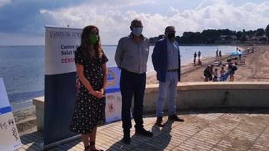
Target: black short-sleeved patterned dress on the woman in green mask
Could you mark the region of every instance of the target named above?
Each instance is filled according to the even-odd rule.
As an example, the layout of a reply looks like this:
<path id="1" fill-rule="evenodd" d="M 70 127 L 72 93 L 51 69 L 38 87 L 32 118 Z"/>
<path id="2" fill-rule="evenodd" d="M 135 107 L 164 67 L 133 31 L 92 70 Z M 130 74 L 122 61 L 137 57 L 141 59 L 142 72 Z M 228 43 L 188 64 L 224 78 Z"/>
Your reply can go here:
<path id="1" fill-rule="evenodd" d="M 101 58 L 98 56 L 90 58 L 84 55 L 80 47 L 75 52 L 75 62 L 83 65 L 84 76 L 90 82 L 94 91 L 100 91 L 103 88 L 104 73 L 101 65 L 107 61 L 104 53 Z M 92 128 L 105 123 L 105 97 L 98 99 L 91 95 L 81 82 L 79 83 L 76 106 L 69 124 L 69 130 L 80 134 L 89 134 Z"/>

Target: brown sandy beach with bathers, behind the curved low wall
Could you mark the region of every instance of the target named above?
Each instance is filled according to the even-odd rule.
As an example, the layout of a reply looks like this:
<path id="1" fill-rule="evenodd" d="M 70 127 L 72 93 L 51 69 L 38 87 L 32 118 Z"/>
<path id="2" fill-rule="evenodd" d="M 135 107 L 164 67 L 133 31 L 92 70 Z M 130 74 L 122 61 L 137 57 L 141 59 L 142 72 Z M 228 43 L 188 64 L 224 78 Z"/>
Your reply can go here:
<path id="1" fill-rule="evenodd" d="M 242 50 L 251 48 L 250 46 L 238 46 Z M 226 62 L 229 56 L 223 56 L 219 59 Z M 238 70 L 234 74 L 234 81 L 269 81 L 269 46 L 255 46 L 254 53 L 245 54 L 242 56 L 246 64 L 237 66 Z M 205 68 L 216 61 L 215 57 L 202 59 L 202 66 L 193 66 L 193 63 L 181 67 L 181 82 L 202 82 L 204 81 L 203 71 Z M 218 68 L 218 73 L 220 67 Z M 225 69 L 227 70 L 227 68 Z M 229 78 L 227 79 L 227 81 Z M 147 78 L 147 84 L 158 83 L 156 75 L 151 75 Z"/>

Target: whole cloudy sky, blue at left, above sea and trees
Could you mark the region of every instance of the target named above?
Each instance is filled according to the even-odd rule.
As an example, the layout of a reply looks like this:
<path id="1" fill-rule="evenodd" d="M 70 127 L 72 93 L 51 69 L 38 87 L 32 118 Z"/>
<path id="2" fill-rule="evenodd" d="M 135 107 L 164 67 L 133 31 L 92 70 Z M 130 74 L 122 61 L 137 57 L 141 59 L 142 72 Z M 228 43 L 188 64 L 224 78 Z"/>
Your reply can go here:
<path id="1" fill-rule="evenodd" d="M 250 30 L 269 24 L 265 0 L 0 0 L 0 45 L 44 45 L 45 25 L 99 27 L 103 44 L 129 34 L 142 20 L 147 37 L 174 25 L 177 35 L 204 29 Z"/>

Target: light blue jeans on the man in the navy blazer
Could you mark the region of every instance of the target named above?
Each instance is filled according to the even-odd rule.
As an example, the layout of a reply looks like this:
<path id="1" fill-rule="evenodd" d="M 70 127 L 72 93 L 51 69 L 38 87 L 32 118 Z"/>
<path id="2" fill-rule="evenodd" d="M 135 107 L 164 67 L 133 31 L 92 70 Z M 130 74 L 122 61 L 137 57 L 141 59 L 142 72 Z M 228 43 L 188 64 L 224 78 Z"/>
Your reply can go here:
<path id="1" fill-rule="evenodd" d="M 178 72 L 167 72 L 166 82 L 159 83 L 159 96 L 156 104 L 157 117 L 163 117 L 164 101 L 168 99 L 168 114 L 175 114 L 177 98 Z"/>

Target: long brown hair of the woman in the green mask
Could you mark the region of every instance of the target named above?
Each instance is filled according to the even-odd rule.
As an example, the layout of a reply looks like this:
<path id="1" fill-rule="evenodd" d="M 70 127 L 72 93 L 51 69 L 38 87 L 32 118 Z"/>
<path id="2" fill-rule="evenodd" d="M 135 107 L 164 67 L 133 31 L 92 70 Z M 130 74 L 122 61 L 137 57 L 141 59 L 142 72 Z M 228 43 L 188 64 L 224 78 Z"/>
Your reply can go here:
<path id="1" fill-rule="evenodd" d="M 101 58 L 103 52 L 102 52 L 102 48 L 101 48 L 99 29 L 96 26 L 89 25 L 89 26 L 86 26 L 83 28 L 83 31 L 81 34 L 80 47 L 86 56 L 89 56 L 89 57 L 91 56 L 90 52 L 92 50 L 90 49 L 90 45 L 92 45 L 92 44 L 90 44 L 90 41 L 89 41 L 89 34 L 90 34 L 91 30 L 94 28 L 97 29 L 97 35 L 98 35 L 98 41 L 96 42 L 96 44 L 94 44 L 94 51 L 95 51 L 95 55 L 97 55 L 99 58 Z"/>

